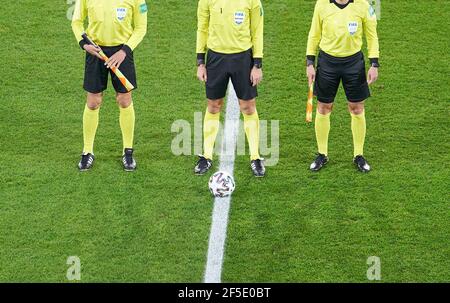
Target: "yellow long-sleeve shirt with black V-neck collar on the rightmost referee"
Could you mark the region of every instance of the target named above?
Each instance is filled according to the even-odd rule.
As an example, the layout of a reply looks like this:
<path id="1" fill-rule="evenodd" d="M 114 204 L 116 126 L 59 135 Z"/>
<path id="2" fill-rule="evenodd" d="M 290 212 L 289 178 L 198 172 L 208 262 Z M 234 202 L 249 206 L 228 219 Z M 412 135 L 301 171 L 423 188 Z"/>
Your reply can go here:
<path id="1" fill-rule="evenodd" d="M 316 56 L 318 47 L 335 57 L 347 57 L 361 51 L 363 34 L 369 58 L 380 56 L 377 17 L 366 0 L 350 0 L 339 8 L 333 0 L 318 0 L 308 37 L 307 56 Z"/>

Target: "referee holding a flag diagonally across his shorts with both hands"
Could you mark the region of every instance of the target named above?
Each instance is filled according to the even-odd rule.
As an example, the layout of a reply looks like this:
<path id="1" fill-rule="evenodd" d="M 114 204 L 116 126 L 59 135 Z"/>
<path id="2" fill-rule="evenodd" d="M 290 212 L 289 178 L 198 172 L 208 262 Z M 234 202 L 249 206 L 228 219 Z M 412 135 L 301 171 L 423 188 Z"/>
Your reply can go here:
<path id="1" fill-rule="evenodd" d="M 84 21 L 88 19 L 85 30 Z M 99 108 L 103 91 L 107 88 L 108 74 L 116 91 L 120 109 L 120 128 L 123 138 L 122 163 L 124 170 L 134 171 L 133 137 L 135 114 L 131 92 L 122 85 L 111 71 L 117 67 L 137 88 L 133 51 L 147 32 L 147 4 L 145 0 L 77 0 L 72 29 L 82 49 L 86 51 L 84 89 L 87 102 L 83 114 L 84 148 L 78 163 L 80 171 L 92 168 L 94 163 L 94 138 L 99 120 Z M 109 57 L 105 63 L 99 55 L 100 49 L 84 41 L 86 31 L 101 50 Z"/>

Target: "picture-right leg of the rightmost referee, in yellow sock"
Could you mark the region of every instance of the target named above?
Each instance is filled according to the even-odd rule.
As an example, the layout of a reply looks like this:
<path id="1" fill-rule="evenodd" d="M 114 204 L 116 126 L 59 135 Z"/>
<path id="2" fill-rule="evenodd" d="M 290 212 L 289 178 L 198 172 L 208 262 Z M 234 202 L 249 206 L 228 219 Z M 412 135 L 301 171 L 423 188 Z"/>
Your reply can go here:
<path id="1" fill-rule="evenodd" d="M 366 117 L 364 115 L 364 101 L 348 102 L 348 110 L 352 116 L 353 156 L 362 156 L 366 138 Z"/>

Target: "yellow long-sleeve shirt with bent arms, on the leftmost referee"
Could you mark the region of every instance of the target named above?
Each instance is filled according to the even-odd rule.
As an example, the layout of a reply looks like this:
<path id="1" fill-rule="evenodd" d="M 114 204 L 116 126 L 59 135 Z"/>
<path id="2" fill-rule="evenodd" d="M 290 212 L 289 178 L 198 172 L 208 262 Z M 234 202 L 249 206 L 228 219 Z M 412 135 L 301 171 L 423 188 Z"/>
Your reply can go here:
<path id="1" fill-rule="evenodd" d="M 125 44 L 134 50 L 147 33 L 145 0 L 77 0 L 72 30 L 78 42 L 85 32 L 101 46 Z"/>

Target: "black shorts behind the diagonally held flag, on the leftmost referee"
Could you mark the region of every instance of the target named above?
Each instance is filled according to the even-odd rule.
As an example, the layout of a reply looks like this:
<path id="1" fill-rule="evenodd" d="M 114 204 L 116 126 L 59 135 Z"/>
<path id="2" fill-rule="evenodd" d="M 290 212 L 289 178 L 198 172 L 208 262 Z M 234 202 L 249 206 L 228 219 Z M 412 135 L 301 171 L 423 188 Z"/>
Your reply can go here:
<path id="1" fill-rule="evenodd" d="M 101 46 L 106 56 L 111 57 L 116 52 L 122 49 L 122 45 L 119 46 Z M 133 54 L 127 54 L 125 60 L 119 67 L 119 70 L 124 76 L 133 84 L 134 88 L 137 88 L 136 83 L 136 69 L 134 67 Z M 86 65 L 84 70 L 84 85 L 83 88 L 90 93 L 97 94 L 103 92 L 108 87 L 108 73 L 111 74 L 111 81 L 114 89 L 118 93 L 126 93 L 127 89 L 120 82 L 119 78 L 105 66 L 105 62 L 92 56 L 86 52 Z"/>

